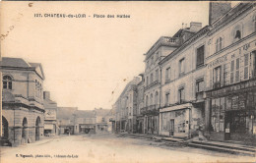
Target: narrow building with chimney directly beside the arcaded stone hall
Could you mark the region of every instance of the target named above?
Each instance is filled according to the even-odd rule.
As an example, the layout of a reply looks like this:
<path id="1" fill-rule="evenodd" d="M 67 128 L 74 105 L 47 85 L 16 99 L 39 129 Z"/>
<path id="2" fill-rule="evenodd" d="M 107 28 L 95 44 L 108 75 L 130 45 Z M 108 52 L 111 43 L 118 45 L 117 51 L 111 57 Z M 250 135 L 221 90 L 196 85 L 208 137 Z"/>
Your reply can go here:
<path id="1" fill-rule="evenodd" d="M 55 136 L 58 132 L 57 126 L 57 103 L 50 99 L 50 92 L 43 91 L 44 113 L 44 136 Z"/>

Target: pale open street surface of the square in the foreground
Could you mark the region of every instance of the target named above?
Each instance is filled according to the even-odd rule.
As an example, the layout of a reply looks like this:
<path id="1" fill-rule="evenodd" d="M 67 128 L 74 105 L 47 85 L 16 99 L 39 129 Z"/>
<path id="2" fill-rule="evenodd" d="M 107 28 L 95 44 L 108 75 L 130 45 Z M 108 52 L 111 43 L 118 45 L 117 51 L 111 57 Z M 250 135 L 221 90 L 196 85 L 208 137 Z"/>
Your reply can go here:
<path id="1" fill-rule="evenodd" d="M 9 162 L 253 162 L 255 158 L 115 135 L 47 137 L 19 147 L 1 147 Z"/>

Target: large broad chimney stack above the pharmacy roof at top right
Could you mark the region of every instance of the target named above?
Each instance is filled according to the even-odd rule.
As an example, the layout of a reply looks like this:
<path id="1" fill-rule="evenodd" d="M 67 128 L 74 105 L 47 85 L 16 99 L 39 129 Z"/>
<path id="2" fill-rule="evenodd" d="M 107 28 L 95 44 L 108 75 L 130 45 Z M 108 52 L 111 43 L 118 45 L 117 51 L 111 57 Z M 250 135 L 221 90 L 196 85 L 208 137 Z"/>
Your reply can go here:
<path id="1" fill-rule="evenodd" d="M 230 2 L 210 2 L 209 6 L 209 25 L 221 18 L 231 9 Z"/>

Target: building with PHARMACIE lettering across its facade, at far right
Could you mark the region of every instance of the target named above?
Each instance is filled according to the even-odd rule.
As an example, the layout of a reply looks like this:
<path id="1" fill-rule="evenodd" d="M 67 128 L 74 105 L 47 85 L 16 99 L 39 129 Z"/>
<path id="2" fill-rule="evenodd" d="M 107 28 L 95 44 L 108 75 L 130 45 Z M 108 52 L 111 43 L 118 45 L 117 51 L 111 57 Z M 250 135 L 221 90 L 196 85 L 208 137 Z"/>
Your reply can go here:
<path id="1" fill-rule="evenodd" d="M 240 3 L 211 22 L 206 129 L 211 139 L 255 143 L 256 4 Z"/>

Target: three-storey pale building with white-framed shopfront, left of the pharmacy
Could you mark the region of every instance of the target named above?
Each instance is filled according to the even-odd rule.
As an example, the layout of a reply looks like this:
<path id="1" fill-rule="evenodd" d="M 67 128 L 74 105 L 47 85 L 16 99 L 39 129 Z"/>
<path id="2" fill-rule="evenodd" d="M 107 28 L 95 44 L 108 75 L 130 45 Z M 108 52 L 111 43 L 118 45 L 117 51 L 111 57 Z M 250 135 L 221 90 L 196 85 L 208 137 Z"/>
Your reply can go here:
<path id="1" fill-rule="evenodd" d="M 198 32 L 160 61 L 160 135 L 163 136 L 188 137 L 204 124 L 203 91 L 209 27 L 197 26 L 193 31 Z"/>

